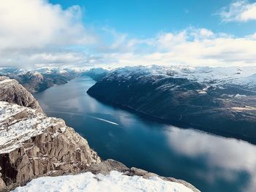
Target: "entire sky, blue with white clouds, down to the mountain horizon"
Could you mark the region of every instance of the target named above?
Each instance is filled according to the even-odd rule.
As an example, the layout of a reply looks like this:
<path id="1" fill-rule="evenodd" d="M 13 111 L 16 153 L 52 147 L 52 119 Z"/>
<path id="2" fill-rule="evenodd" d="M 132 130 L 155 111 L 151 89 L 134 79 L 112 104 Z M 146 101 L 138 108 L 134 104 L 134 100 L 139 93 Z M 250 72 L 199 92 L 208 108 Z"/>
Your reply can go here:
<path id="1" fill-rule="evenodd" d="M 0 66 L 256 66 L 256 0 L 1 0 Z"/>

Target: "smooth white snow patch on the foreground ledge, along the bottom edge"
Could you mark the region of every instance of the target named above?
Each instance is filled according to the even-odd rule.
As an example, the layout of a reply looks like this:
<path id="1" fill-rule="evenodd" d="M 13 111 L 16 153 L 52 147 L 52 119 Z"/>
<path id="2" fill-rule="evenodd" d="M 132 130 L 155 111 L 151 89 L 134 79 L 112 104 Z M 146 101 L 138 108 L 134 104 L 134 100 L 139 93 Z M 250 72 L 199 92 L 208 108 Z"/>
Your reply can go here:
<path id="1" fill-rule="evenodd" d="M 86 172 L 77 175 L 59 177 L 40 177 L 31 180 L 24 187 L 18 187 L 15 192 L 69 192 L 69 191 L 182 191 L 192 192 L 180 183 L 168 182 L 159 177 L 147 180 L 138 176 L 127 176 L 121 172 L 112 171 L 109 175 Z"/>

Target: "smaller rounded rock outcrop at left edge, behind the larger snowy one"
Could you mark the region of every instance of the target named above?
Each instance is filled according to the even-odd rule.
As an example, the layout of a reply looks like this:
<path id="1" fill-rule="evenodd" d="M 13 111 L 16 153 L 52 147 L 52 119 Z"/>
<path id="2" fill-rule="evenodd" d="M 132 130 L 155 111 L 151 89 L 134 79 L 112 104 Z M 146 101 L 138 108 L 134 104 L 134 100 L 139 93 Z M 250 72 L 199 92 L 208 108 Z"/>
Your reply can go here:
<path id="1" fill-rule="evenodd" d="M 23 88 L 17 80 L 11 80 L 9 77 L 0 76 L 0 101 L 31 107 L 42 112 L 34 96 L 26 88 Z"/>

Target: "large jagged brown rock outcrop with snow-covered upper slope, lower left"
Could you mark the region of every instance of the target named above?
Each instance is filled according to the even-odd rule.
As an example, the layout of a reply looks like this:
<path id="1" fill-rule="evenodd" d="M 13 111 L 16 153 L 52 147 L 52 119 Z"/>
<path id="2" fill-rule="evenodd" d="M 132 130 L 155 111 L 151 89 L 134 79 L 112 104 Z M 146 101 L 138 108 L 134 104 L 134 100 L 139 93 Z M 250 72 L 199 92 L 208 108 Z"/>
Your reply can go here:
<path id="1" fill-rule="evenodd" d="M 78 172 L 100 158 L 64 120 L 0 101 L 0 191 L 48 172 Z"/>

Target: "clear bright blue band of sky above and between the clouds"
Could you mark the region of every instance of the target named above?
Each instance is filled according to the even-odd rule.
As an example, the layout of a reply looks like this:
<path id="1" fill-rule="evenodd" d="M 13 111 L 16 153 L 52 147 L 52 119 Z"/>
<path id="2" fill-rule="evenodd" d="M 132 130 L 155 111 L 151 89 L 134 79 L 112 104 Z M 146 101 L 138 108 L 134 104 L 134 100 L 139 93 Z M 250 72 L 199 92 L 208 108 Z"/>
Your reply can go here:
<path id="1" fill-rule="evenodd" d="M 64 9 L 78 4 L 83 22 L 94 28 L 110 27 L 131 37 L 152 37 L 159 31 L 179 31 L 189 26 L 208 28 L 237 37 L 256 31 L 255 22 L 223 23 L 216 15 L 230 0 L 50 0 Z"/>

